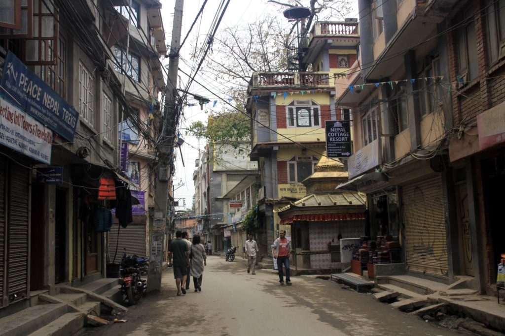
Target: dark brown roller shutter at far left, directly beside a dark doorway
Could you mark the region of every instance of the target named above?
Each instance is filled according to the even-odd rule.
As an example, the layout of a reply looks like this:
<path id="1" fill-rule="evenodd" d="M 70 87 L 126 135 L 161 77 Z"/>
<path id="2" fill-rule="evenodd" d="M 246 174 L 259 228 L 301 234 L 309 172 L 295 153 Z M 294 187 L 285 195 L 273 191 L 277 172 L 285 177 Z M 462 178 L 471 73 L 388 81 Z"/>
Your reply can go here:
<path id="1" fill-rule="evenodd" d="M 28 294 L 29 180 L 28 169 L 11 165 L 7 217 L 9 303 L 23 299 Z"/>

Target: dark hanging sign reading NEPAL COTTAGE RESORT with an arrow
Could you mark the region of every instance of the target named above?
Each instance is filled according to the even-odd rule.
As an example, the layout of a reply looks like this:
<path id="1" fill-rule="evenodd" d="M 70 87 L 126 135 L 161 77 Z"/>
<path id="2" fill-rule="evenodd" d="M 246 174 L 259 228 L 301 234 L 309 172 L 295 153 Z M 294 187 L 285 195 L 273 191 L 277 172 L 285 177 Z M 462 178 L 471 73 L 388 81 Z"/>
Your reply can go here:
<path id="1" fill-rule="evenodd" d="M 351 152 L 350 121 L 326 121 L 326 153 L 328 158 L 348 158 Z"/>

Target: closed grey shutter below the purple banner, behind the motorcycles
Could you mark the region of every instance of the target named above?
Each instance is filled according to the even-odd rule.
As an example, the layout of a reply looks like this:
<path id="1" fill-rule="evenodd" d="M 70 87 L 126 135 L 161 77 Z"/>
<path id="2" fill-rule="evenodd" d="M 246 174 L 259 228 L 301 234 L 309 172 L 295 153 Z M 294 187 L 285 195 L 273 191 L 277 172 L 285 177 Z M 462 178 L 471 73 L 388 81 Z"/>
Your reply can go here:
<path id="1" fill-rule="evenodd" d="M 124 248 L 128 255 L 136 254 L 138 256 L 146 256 L 145 254 L 145 224 L 128 224 L 126 228 L 121 227 L 119 230 L 118 243 L 118 227 L 119 224 L 114 224 L 109 232 L 109 253 L 112 258 L 116 252 L 116 244 L 118 244 L 118 254 L 115 262 L 120 262 L 123 256 Z"/>

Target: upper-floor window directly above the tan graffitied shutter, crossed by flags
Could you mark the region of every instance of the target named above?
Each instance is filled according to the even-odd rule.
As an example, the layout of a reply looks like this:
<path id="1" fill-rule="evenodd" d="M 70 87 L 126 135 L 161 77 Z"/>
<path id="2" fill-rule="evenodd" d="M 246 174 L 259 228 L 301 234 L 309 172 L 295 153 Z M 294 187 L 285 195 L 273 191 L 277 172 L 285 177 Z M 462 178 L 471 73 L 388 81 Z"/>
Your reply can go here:
<path id="1" fill-rule="evenodd" d="M 434 112 L 438 101 L 442 98 L 441 87 L 435 79 L 435 77 L 440 76 L 438 51 L 433 50 L 425 57 L 422 68 L 423 71 L 418 74 L 418 78 L 426 78 L 426 80 L 418 81 L 418 103 L 421 114 L 425 115 Z"/>

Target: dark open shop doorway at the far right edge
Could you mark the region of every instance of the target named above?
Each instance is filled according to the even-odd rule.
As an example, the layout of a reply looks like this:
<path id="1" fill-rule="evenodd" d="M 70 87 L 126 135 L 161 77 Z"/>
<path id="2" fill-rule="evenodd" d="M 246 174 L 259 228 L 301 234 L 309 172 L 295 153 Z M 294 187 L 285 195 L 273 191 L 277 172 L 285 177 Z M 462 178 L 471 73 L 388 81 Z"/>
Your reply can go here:
<path id="1" fill-rule="evenodd" d="M 496 265 L 500 254 L 505 253 L 505 225 L 503 225 L 503 198 L 499 197 L 505 188 L 505 156 L 494 157 L 483 162 L 486 222 L 490 228 L 492 255 L 489 262 L 491 283 L 496 281 Z M 487 178 L 485 178 L 487 176 Z"/>

